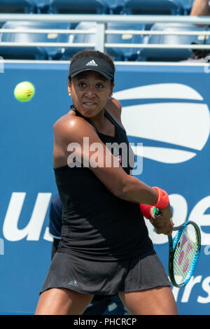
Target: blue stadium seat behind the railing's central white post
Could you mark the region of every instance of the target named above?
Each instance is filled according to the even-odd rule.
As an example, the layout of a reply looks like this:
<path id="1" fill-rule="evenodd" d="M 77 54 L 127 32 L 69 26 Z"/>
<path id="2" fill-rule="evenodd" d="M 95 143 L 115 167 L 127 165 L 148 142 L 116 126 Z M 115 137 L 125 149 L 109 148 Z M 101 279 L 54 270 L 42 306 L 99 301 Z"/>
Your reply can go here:
<path id="1" fill-rule="evenodd" d="M 76 29 L 95 29 L 96 23 L 90 22 L 81 22 L 78 24 Z M 122 29 L 136 29 L 141 30 L 144 29 L 143 24 L 123 24 L 123 23 L 113 23 L 110 22 L 107 24 L 106 29 L 113 30 L 122 30 Z M 69 42 L 72 43 L 95 43 L 95 35 L 94 34 L 76 34 L 70 37 Z M 106 35 L 106 43 L 143 43 L 144 37 L 141 35 L 133 35 L 133 34 L 107 34 Z M 88 47 L 87 47 L 88 48 Z M 84 47 L 76 47 L 76 48 L 66 48 L 62 59 L 69 59 L 75 52 L 83 50 Z M 122 60 L 137 60 L 139 57 L 139 48 L 106 48 L 106 52 L 111 55 L 114 60 L 122 61 Z"/>

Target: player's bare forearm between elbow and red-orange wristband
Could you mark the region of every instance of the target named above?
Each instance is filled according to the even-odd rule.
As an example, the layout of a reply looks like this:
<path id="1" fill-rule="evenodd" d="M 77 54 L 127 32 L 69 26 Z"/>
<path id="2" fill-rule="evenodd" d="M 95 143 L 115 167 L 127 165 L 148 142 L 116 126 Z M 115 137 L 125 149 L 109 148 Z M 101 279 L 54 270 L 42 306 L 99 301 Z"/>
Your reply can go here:
<path id="1" fill-rule="evenodd" d="M 129 176 L 129 179 L 123 182 L 123 187 L 118 197 L 130 202 L 152 205 L 157 202 L 158 193 L 157 190 L 139 181 L 136 177 Z"/>

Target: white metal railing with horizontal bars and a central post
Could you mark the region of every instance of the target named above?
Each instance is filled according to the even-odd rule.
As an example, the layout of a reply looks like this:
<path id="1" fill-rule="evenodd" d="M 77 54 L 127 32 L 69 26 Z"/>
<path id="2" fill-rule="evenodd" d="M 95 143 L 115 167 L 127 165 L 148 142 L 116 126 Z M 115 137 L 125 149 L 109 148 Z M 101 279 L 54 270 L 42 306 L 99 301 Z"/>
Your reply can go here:
<path id="1" fill-rule="evenodd" d="M 0 42 L 1 47 L 84 47 L 104 52 L 106 48 L 169 48 L 169 49 L 209 49 L 210 44 L 154 44 L 154 43 L 106 43 L 108 34 L 132 34 L 132 35 L 197 35 L 209 36 L 210 31 L 151 31 L 151 30 L 111 30 L 106 29 L 109 22 L 130 24 L 153 24 L 162 23 L 186 23 L 195 25 L 210 25 L 210 16 L 179 16 L 179 15 L 57 15 L 57 14 L 0 14 L 0 22 L 6 21 L 34 21 L 34 22 L 94 22 L 95 29 L 0 29 L 1 33 L 37 33 L 37 34 L 95 34 L 94 43 L 59 43 L 59 42 Z"/>

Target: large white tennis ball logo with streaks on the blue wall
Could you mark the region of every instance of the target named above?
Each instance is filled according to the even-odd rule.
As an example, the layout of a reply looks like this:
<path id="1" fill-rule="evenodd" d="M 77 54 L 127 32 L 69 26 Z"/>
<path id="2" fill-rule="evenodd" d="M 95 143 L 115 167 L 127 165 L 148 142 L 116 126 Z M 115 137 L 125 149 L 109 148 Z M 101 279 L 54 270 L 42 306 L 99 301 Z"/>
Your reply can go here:
<path id="1" fill-rule="evenodd" d="M 136 155 L 178 164 L 194 158 L 209 139 L 209 108 L 202 95 L 188 85 L 144 85 L 115 92 L 113 97 L 120 102 L 151 99 L 149 104 L 123 106 L 122 121 L 127 135 L 143 143 L 144 139 L 147 141 L 140 149 L 133 147 Z M 172 102 L 158 102 L 158 99 L 172 99 Z M 157 146 L 153 146 L 154 141 Z"/>

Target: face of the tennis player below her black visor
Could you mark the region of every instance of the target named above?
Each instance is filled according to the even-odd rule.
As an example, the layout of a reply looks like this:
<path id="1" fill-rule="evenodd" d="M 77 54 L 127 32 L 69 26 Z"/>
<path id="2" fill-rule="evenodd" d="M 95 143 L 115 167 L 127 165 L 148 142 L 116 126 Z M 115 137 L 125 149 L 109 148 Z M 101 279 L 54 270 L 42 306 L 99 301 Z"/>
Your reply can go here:
<path id="1" fill-rule="evenodd" d="M 105 108 L 113 85 L 96 71 L 84 71 L 71 79 L 69 92 L 76 109 L 85 118 L 93 118 Z"/>

